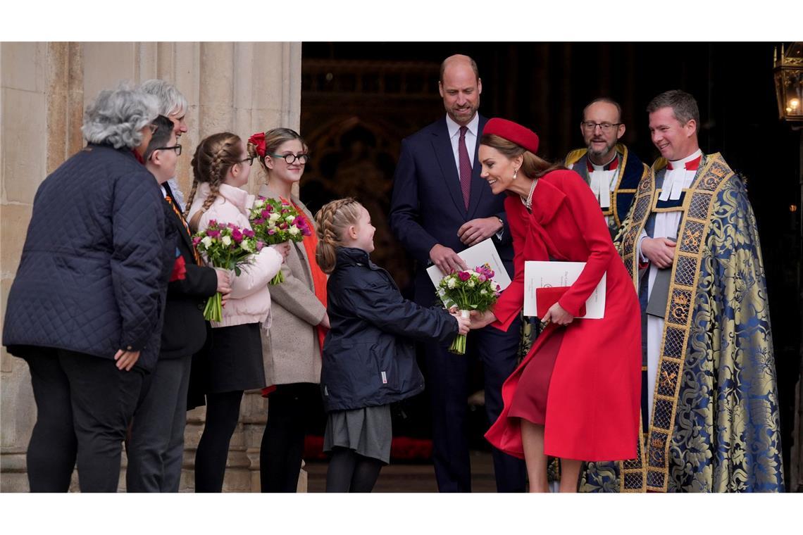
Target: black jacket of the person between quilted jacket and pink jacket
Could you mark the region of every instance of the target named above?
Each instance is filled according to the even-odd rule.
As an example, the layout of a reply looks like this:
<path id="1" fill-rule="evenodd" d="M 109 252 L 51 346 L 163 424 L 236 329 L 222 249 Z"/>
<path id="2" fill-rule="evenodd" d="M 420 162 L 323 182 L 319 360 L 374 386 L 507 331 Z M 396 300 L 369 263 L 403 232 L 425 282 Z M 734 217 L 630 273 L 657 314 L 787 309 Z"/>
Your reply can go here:
<path id="1" fill-rule="evenodd" d="M 173 193 L 163 184 L 170 197 Z M 193 355 L 206 341 L 206 320 L 203 309 L 206 299 L 218 290 L 218 276 L 214 269 L 196 265 L 193 244 L 180 217 L 166 205 L 165 219 L 176 229 L 175 245 L 184 257 L 185 278 L 170 282 L 167 286 L 165 324 L 161 330 L 160 359 L 175 359 Z"/>

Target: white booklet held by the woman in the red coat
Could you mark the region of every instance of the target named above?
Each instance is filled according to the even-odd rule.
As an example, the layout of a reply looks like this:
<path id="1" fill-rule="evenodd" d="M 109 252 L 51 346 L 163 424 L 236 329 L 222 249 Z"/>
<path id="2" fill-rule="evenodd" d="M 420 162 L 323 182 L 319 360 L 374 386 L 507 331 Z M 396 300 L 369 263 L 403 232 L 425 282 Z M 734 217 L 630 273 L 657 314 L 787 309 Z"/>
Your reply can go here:
<path id="1" fill-rule="evenodd" d="M 535 316 L 536 288 L 572 286 L 585 268 L 585 262 L 525 261 L 524 262 L 524 315 Z M 585 319 L 601 319 L 605 315 L 605 278 L 585 302 Z"/>

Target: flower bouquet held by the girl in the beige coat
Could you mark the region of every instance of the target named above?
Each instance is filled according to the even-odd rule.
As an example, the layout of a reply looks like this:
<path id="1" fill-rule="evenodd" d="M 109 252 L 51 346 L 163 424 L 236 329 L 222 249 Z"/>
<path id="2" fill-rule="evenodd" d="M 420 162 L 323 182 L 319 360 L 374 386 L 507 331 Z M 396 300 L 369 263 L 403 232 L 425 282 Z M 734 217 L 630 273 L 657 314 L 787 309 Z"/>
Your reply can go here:
<path id="1" fill-rule="evenodd" d="M 304 236 L 312 234 L 307 220 L 299 213 L 295 206 L 282 199 L 267 199 L 259 196 L 251 207 L 248 216 L 251 228 L 254 229 L 258 240 L 267 245 L 276 245 L 285 241 L 301 241 Z M 281 271 L 271 279 L 271 284 L 280 284 L 284 281 Z"/>

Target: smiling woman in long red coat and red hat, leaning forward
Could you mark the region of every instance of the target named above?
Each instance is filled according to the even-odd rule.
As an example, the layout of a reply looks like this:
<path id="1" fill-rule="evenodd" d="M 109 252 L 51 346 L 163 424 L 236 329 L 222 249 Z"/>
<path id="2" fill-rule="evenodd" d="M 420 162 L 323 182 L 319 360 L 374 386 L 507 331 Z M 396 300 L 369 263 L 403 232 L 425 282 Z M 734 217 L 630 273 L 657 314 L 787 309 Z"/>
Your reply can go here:
<path id="1" fill-rule="evenodd" d="M 586 262 L 548 312 L 544 332 L 502 387 L 504 408 L 486 433 L 496 448 L 527 463 L 531 492 L 547 491 L 547 456 L 561 460 L 561 492 L 577 492 L 583 461 L 636 456 L 641 395 L 641 318 L 633 282 L 605 218 L 576 172 L 536 156 L 538 136 L 491 119 L 483 129 L 482 177 L 498 195 L 513 237 L 516 274 L 493 310 L 471 328 L 507 330 L 524 305 L 524 261 Z M 607 274 L 605 317 L 579 319 Z"/>

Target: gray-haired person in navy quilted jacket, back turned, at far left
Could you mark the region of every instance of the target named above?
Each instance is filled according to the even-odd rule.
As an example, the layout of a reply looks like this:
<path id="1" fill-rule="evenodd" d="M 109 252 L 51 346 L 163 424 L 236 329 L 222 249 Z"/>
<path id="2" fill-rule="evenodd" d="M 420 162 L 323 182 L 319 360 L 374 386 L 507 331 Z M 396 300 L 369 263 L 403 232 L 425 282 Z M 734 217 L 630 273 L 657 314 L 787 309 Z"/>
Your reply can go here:
<path id="1" fill-rule="evenodd" d="M 25 359 L 32 492 L 115 492 L 121 444 L 156 363 L 173 231 L 142 164 L 156 99 L 119 87 L 84 114 L 88 145 L 40 184 L 2 343 Z M 169 234 L 169 235 L 168 235 Z"/>

